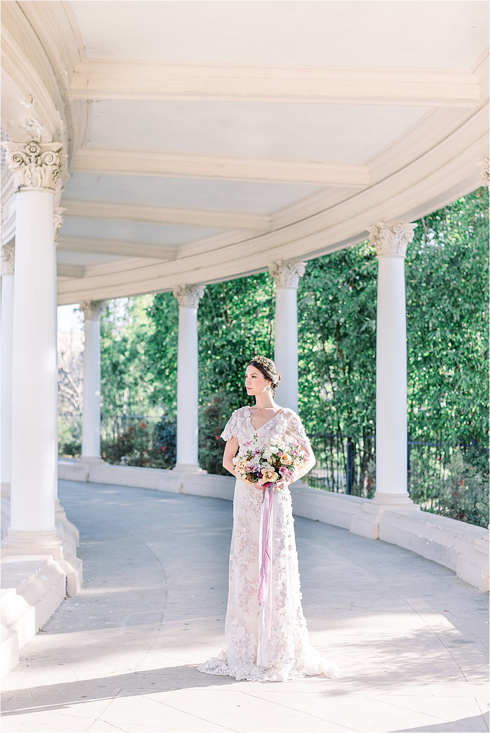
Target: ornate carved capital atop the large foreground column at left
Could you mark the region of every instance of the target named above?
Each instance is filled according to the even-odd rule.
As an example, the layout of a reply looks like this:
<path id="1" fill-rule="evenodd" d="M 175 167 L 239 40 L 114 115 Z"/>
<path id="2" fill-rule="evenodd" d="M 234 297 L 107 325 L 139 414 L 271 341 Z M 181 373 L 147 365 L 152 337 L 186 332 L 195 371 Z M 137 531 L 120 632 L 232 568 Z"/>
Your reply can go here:
<path id="1" fill-rule="evenodd" d="M 15 191 L 46 188 L 54 191 L 61 174 L 61 142 L 4 143 L 5 160 L 14 177 Z"/>

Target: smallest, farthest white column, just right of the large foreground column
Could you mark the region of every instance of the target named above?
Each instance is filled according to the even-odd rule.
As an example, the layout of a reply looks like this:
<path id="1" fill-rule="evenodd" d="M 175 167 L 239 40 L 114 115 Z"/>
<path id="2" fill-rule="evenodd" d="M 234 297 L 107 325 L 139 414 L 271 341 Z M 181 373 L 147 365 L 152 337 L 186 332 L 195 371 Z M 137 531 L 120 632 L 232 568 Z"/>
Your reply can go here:
<path id="1" fill-rule="evenodd" d="M 81 425 L 81 457 L 100 460 L 100 314 L 106 301 L 84 301 L 85 315 L 84 407 Z"/>

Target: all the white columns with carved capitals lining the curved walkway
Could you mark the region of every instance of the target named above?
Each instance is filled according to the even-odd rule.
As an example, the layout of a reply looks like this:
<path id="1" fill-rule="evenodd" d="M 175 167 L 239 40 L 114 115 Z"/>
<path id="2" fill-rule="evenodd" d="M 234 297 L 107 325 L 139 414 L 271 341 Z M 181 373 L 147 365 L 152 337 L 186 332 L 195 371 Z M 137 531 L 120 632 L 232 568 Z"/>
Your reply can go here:
<path id="1" fill-rule="evenodd" d="M 1 257 L 1 486 L 11 495 L 10 528 L 2 553 L 56 553 L 57 368 L 56 234 L 54 207 L 62 144 L 7 145 L 15 179 L 14 250 Z M 488 174 L 487 174 L 488 175 Z M 378 259 L 376 337 L 376 496 L 374 504 L 409 506 L 406 485 L 406 304 L 404 259 L 415 224 L 370 227 Z M 274 360 L 283 380 L 277 402 L 298 410 L 296 293 L 304 262 L 274 262 Z M 14 287 L 15 283 L 15 287 Z M 204 285 L 180 285 L 178 427 L 175 471 L 199 472 L 197 312 Z M 100 312 L 103 301 L 81 303 L 85 315 L 82 460 L 100 460 Z M 373 506 L 374 506 L 373 504 Z"/>

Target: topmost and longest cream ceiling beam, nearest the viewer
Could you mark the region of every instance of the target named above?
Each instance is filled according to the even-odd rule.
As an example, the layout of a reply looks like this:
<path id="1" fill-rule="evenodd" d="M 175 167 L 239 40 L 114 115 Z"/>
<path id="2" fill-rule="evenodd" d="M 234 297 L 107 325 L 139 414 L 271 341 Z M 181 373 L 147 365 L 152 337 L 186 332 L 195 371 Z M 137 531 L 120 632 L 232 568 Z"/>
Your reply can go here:
<path id="1" fill-rule="evenodd" d="M 88 59 L 76 67 L 71 99 L 246 100 L 475 107 L 470 71 L 164 64 Z"/>

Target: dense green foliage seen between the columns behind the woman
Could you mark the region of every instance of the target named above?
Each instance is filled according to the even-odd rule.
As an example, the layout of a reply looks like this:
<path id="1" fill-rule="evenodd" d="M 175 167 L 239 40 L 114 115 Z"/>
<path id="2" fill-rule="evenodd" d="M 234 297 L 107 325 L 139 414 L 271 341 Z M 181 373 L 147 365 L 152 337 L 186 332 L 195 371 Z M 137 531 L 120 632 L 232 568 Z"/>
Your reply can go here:
<path id="1" fill-rule="evenodd" d="M 488 205 L 480 188 L 426 216 L 407 251 L 412 441 L 488 442 Z M 376 275 L 374 248 L 361 243 L 310 261 L 299 284 L 299 412 L 318 441 L 340 433 L 354 450 L 373 444 L 375 432 Z M 261 273 L 210 284 L 198 313 L 200 463 L 220 473 L 219 433 L 248 399 L 246 363 L 255 353 L 274 357 L 273 281 Z M 109 303 L 102 322 L 105 419 L 164 414 L 175 433 L 177 336 L 178 305 L 169 292 Z M 368 452 L 366 466 L 371 458 Z M 483 463 L 484 473 L 487 457 Z"/>

